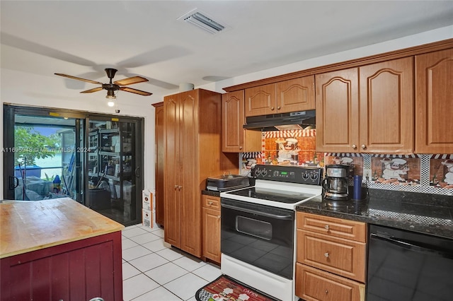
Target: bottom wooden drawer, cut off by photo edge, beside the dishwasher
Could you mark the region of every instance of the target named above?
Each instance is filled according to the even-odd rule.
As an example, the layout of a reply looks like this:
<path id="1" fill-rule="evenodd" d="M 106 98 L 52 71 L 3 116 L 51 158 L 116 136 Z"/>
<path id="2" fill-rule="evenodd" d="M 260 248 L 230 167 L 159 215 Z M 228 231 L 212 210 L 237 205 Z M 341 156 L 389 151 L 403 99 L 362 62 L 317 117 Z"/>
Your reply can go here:
<path id="1" fill-rule="evenodd" d="M 296 295 L 306 301 L 364 301 L 365 285 L 297 263 Z"/>

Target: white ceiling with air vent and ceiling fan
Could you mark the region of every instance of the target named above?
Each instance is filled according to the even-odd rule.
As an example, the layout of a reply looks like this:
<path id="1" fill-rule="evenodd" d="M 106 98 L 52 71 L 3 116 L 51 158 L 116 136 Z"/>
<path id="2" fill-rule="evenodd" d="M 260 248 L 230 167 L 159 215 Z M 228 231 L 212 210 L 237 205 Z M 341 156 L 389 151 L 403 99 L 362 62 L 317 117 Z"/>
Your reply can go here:
<path id="1" fill-rule="evenodd" d="M 194 8 L 226 30 L 178 20 Z M 115 80 L 147 77 L 131 88 L 159 95 L 453 24 L 453 1 L 2 0 L 0 9 L 2 69 L 105 83 L 113 67 Z"/>

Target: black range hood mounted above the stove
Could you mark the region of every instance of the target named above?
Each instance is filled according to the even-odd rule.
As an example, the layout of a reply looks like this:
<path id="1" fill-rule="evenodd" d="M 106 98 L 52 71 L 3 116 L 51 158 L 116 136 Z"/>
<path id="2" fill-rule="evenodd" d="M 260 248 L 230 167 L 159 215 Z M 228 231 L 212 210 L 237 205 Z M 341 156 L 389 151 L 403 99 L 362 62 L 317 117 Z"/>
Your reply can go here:
<path id="1" fill-rule="evenodd" d="M 299 111 L 290 113 L 270 114 L 246 117 L 244 129 L 256 131 L 282 131 L 287 129 L 304 129 L 316 126 L 316 111 Z"/>

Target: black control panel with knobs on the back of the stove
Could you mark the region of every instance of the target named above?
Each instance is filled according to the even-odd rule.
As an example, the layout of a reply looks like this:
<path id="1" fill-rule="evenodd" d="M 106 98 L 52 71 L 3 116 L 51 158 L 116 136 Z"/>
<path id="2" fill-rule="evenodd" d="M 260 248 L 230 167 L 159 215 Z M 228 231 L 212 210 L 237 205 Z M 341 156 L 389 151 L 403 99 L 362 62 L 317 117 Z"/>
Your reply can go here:
<path id="1" fill-rule="evenodd" d="M 255 165 L 253 177 L 270 181 L 320 185 L 322 168 L 285 165 Z"/>

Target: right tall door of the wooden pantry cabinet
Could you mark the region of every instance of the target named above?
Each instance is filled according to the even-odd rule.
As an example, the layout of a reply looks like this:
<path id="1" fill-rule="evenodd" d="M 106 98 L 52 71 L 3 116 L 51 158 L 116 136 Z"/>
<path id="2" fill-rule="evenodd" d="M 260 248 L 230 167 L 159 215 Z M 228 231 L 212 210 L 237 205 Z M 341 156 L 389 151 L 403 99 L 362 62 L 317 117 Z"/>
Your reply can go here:
<path id="1" fill-rule="evenodd" d="M 198 105 L 197 90 L 180 93 L 178 168 L 180 188 L 180 249 L 201 256 L 201 204 L 198 179 Z M 203 117 L 202 117 L 203 118 Z M 197 230 L 198 229 L 198 230 Z"/>

